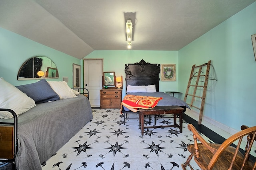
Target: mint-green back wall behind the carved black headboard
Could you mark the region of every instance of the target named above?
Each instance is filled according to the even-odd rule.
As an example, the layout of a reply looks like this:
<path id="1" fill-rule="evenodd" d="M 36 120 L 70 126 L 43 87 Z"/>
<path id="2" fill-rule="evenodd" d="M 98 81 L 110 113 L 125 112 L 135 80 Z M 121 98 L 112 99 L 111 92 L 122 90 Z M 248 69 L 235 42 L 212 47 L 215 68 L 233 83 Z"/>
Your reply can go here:
<path id="1" fill-rule="evenodd" d="M 93 51 L 85 59 L 103 59 L 103 71 L 114 71 L 116 76 L 123 76 L 123 86 L 125 87 L 125 64 L 140 62 L 142 59 L 147 63 L 176 64 L 178 70 L 178 51 Z M 160 66 L 161 68 L 161 66 Z M 176 81 L 161 81 L 160 91 L 178 90 L 178 72 L 176 71 Z M 122 92 L 125 96 L 125 88 Z M 178 97 L 178 96 L 176 96 Z"/>

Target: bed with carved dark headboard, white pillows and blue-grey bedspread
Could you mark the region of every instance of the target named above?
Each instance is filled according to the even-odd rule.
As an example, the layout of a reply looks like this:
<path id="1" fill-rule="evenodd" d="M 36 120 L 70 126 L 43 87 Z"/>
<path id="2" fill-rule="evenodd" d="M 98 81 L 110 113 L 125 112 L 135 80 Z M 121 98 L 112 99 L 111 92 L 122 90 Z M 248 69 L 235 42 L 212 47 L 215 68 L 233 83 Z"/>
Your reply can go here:
<path id="1" fill-rule="evenodd" d="M 144 60 L 141 60 L 139 63 L 134 64 L 125 64 L 126 73 L 125 81 L 126 81 L 126 96 L 124 100 L 126 100 L 129 95 L 131 96 L 152 96 L 161 98 L 156 103 L 156 106 L 180 106 L 184 108 L 190 108 L 186 102 L 170 96 L 164 92 L 159 92 L 159 74 L 160 74 L 160 64 L 151 64 L 147 63 Z M 126 107 L 124 100 L 122 101 L 122 113 L 124 113 L 124 124 L 125 119 L 127 119 L 127 114 L 130 111 L 136 112 L 139 108 L 142 107 Z M 160 107 L 158 107 L 160 108 Z M 152 109 L 151 107 L 148 108 Z"/>

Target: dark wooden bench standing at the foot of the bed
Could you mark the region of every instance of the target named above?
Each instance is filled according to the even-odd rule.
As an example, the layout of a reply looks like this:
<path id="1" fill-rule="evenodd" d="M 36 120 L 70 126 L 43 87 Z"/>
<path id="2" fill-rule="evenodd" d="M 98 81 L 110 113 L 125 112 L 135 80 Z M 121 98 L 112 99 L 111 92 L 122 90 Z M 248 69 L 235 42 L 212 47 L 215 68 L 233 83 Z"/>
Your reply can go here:
<path id="1" fill-rule="evenodd" d="M 144 135 L 144 128 L 158 128 L 158 127 L 178 127 L 180 133 L 182 133 L 182 115 L 185 109 L 180 106 L 156 106 L 152 109 L 139 109 L 140 115 L 140 129 L 141 135 Z M 162 125 L 162 126 L 144 126 L 144 115 L 163 115 L 173 114 L 174 123 L 173 125 Z M 176 123 L 176 116 L 180 117 L 180 125 Z"/>

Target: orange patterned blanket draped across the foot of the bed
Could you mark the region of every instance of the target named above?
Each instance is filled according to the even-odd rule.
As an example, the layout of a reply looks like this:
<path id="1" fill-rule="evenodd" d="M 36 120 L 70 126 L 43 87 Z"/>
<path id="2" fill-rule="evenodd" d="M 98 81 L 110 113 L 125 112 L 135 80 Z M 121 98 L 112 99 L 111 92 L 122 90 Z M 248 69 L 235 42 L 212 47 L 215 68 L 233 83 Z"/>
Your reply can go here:
<path id="1" fill-rule="evenodd" d="M 158 104 L 160 100 L 162 100 L 162 97 L 136 96 L 128 94 L 124 96 L 121 104 L 130 109 L 131 111 L 137 112 L 138 108 L 152 109 Z"/>

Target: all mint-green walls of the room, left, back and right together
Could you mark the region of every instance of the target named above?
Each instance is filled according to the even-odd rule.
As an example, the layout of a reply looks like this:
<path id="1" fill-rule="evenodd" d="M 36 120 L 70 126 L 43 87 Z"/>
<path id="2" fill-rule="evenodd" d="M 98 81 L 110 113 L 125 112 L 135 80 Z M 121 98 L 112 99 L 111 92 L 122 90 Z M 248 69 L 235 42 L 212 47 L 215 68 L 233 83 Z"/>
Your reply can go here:
<path id="1" fill-rule="evenodd" d="M 252 109 L 256 102 L 256 62 L 251 41 L 255 33 L 256 2 L 180 51 L 94 51 L 85 58 L 104 59 L 104 71 L 114 71 L 116 76 L 124 76 L 123 80 L 124 64 L 142 59 L 148 63 L 176 64 L 176 81 L 160 81 L 160 91 L 178 90 L 183 92 L 182 96 L 176 96 L 181 99 L 184 99 L 192 65 L 212 60 L 214 69 L 211 68 L 210 76 L 214 72 L 218 81 L 208 83 L 204 115 L 239 130 L 243 124 L 254 126 L 256 122 Z M 0 77 L 14 86 L 36 82 L 18 81 L 16 77 L 21 64 L 37 55 L 49 57 L 56 64 L 60 78 L 52 80 L 62 81 L 63 76 L 68 77 L 68 85 L 72 87 L 72 64 L 82 66 L 82 61 L 0 28 Z"/>

